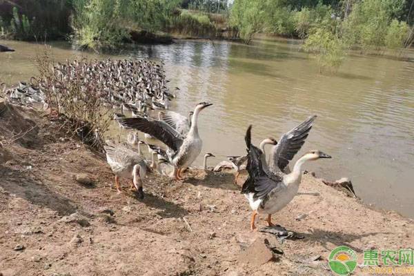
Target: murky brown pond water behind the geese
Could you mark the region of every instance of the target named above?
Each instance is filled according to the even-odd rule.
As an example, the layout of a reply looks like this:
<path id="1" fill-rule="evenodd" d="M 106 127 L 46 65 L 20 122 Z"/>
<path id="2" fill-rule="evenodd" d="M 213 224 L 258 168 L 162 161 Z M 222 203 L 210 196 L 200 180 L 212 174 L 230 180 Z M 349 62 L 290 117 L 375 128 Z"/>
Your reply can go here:
<path id="1" fill-rule="evenodd" d="M 1 53 L 0 79 L 29 79 L 37 46 L 0 41 L 17 52 Z M 105 55 L 53 43 L 57 60 Z M 408 53 L 412 55 L 413 53 Z M 308 115 L 318 115 L 304 149 L 333 156 L 306 165 L 326 179 L 350 177 L 367 203 L 414 217 L 414 62 L 351 55 L 335 75 L 320 74 L 295 41 L 256 41 L 252 46 L 179 41 L 139 46 L 112 57 L 163 59 L 178 86 L 172 110 L 186 114 L 210 101 L 200 117 L 204 152 L 214 166 L 226 155 L 244 154 L 244 133 L 254 141 L 279 138 Z M 412 60 L 412 59 L 411 59 Z M 201 157 L 197 164 L 201 165 Z"/>

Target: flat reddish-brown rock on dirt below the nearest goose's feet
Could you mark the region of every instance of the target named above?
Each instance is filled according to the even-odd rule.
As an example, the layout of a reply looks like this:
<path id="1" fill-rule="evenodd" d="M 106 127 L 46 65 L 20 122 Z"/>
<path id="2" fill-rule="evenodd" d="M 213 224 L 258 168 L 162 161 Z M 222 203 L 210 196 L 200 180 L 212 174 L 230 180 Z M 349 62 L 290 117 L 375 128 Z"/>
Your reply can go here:
<path id="1" fill-rule="evenodd" d="M 266 264 L 273 259 L 273 252 L 266 246 L 266 239 L 257 238 L 239 254 L 238 261 L 253 266 Z"/>

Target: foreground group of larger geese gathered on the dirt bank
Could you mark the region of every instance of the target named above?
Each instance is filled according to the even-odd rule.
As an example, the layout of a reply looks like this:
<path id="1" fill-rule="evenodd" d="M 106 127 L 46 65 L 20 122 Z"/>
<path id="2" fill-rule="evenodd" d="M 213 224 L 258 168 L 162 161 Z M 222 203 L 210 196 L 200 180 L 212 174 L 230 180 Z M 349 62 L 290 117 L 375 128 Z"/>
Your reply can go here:
<path id="1" fill-rule="evenodd" d="M 192 115 L 188 117 L 177 112 L 161 111 L 158 119 L 139 116 L 117 118 L 120 126 L 135 131 L 132 138 L 128 137 L 130 145 L 137 145 L 139 148 L 140 145 L 146 144 L 144 141 L 137 141 L 137 131 L 139 131 L 158 139 L 167 146 L 167 150 L 164 150 L 147 144 L 151 159 L 146 160 L 140 154 L 140 148 L 134 151 L 127 146 L 121 144 L 114 146 L 107 141 L 106 157 L 115 173 L 118 191 L 120 191 L 119 177 L 125 177 L 131 179 L 131 188 L 137 191 L 137 196 L 144 198 L 143 179 L 148 170 L 155 170 L 178 181 L 183 180 L 183 172 L 197 159 L 203 146 L 198 131 L 199 114 L 201 110 L 211 105 L 206 102 L 198 103 Z M 249 126 L 245 137 L 247 155 L 228 157 L 228 161 L 222 161 L 212 169 L 217 172 L 223 168 L 233 168 L 236 171 L 236 182 L 239 172 L 247 170 L 248 178 L 242 186 L 242 193 L 253 210 L 250 221 L 251 230 L 256 228 L 257 213 L 268 215 L 266 219 L 268 226 L 274 225 L 271 215 L 284 208 L 297 195 L 302 179 L 302 166 L 306 161 L 331 158 L 322 151 L 311 150 L 299 158 L 291 170 L 288 167 L 290 161 L 304 145 L 315 119 L 316 116 L 308 117 L 302 124 L 282 135 L 279 141 L 266 137 L 259 147 L 251 143 L 252 126 Z M 267 160 L 266 145 L 272 146 Z M 158 162 L 155 161 L 156 156 Z M 208 170 L 207 158 L 213 156 L 210 152 L 204 155 L 204 170 Z"/>

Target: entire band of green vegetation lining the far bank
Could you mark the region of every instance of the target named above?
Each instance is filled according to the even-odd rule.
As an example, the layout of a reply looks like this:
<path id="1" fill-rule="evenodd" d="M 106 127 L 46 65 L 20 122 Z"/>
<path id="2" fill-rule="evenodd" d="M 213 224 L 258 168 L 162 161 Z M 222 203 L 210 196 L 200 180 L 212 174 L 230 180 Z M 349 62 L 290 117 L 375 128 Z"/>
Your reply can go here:
<path id="1" fill-rule="evenodd" d="M 0 0 L 3 38 L 70 34 L 99 49 L 151 37 L 140 34 L 217 38 L 232 27 L 246 43 L 258 32 L 304 39 L 322 68 L 340 66 L 348 49 L 412 46 L 413 23 L 408 0 Z"/>

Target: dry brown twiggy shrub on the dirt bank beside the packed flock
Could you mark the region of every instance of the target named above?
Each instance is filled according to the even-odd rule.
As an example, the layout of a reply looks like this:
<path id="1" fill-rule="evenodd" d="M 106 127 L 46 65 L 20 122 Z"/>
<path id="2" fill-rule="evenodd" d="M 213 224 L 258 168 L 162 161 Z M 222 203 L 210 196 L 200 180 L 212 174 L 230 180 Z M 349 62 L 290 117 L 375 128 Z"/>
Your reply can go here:
<path id="1" fill-rule="evenodd" d="M 110 110 L 102 108 L 101 88 L 83 77 L 93 61 L 83 59 L 76 65 L 67 61 L 65 67 L 56 66 L 47 48 L 38 53 L 36 61 L 40 74 L 32 78 L 32 82 L 45 93 L 48 108 L 66 118 L 65 124 L 83 143 L 101 150 L 103 135 L 109 129 L 112 117 Z M 61 74 L 69 73 L 68 68 L 73 68 L 73 75 L 62 81 Z"/>

